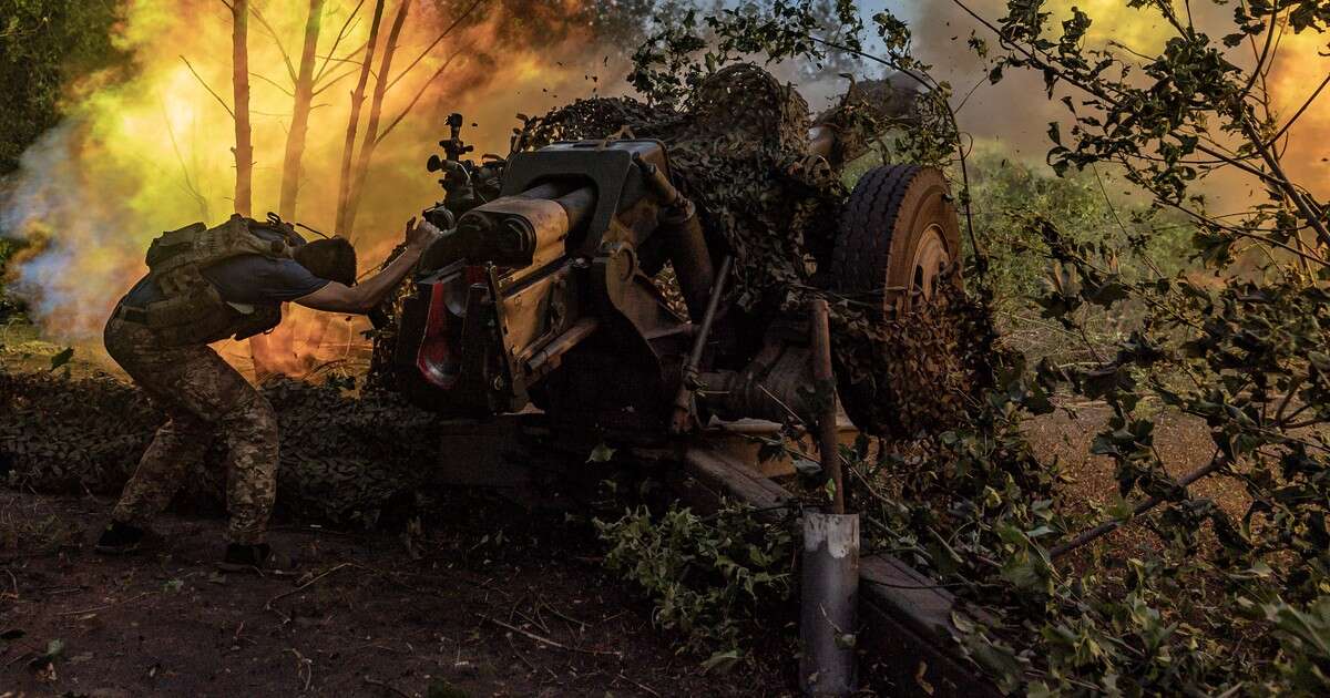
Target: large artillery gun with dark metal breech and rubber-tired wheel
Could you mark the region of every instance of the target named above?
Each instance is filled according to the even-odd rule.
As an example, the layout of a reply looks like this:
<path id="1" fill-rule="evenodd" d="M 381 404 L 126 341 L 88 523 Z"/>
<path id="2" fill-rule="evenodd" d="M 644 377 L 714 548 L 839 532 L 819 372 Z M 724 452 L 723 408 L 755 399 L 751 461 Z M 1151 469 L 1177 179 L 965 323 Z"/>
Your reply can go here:
<path id="1" fill-rule="evenodd" d="M 734 300 L 735 251 L 681 191 L 662 141 L 563 141 L 476 164 L 463 160 L 462 117 L 448 125 L 446 157 L 428 165 L 447 195 L 424 213 L 446 234 L 406 290 L 391 359 L 415 403 L 452 417 L 535 406 L 637 443 L 713 416 L 815 420 L 807 320 Z M 831 169 L 839 150 L 835 129 L 815 126 L 805 164 Z M 932 296 L 959 257 L 934 169 L 867 172 L 826 225 L 834 249 L 814 278 L 880 299 L 882 316 Z M 846 411 L 859 421 L 863 406 Z"/>

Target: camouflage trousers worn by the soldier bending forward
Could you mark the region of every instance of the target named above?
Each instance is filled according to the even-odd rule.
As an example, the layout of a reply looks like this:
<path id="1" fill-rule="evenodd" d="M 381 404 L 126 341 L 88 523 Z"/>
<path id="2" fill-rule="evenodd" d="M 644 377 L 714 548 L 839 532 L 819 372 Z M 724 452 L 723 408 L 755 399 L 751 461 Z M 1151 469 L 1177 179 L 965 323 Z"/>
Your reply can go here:
<path id="1" fill-rule="evenodd" d="M 277 499 L 277 416 L 205 344 L 166 347 L 145 326 L 112 318 L 106 351 L 170 417 L 138 461 L 112 519 L 145 525 L 170 504 L 215 433 L 226 439 L 227 541 L 263 541 Z"/>

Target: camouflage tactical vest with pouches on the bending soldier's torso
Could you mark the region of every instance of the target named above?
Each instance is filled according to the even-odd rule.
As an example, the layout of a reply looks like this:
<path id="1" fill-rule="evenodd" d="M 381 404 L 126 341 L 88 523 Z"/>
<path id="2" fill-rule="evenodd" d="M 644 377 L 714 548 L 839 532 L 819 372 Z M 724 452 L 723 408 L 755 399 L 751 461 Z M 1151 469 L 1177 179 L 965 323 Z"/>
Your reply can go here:
<path id="1" fill-rule="evenodd" d="M 282 239 L 261 238 L 254 229 L 273 230 Z M 258 222 L 238 214 L 217 227 L 193 223 L 162 233 L 148 247 L 148 275 L 164 298 L 142 308 L 145 324 L 168 346 L 245 339 L 277 327 L 281 304 L 227 303 L 202 270 L 245 254 L 290 259 L 298 241 L 291 226 L 279 219 Z"/>

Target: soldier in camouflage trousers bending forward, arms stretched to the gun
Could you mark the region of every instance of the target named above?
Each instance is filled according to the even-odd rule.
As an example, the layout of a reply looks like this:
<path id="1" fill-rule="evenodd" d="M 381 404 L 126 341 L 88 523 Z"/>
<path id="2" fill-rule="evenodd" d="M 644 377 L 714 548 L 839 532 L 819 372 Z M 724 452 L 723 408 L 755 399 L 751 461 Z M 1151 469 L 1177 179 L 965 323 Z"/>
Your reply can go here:
<path id="1" fill-rule="evenodd" d="M 290 566 L 265 542 L 277 493 L 277 417 L 273 407 L 209 343 L 245 339 L 275 327 L 282 303 L 368 314 L 442 233 L 407 223 L 406 250 L 355 285 L 355 249 L 344 238 L 306 243 L 270 215 L 239 215 L 207 229 L 165 233 L 148 250 L 148 275 L 116 306 L 106 351 L 170 417 L 144 453 L 97 541 L 117 554 L 160 544 L 148 529 L 170 503 L 214 429 L 226 439 L 230 572 Z"/>

